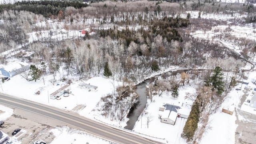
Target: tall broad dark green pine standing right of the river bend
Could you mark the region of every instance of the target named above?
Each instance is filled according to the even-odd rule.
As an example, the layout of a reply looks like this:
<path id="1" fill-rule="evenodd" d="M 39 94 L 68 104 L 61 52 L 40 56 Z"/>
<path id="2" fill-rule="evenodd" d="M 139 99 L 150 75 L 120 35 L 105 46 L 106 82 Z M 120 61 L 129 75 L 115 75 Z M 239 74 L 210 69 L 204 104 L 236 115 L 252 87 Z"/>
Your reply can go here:
<path id="1" fill-rule="evenodd" d="M 224 81 L 223 81 L 222 68 L 216 66 L 213 70 L 212 76 L 205 82 L 205 86 L 213 86 L 212 90 L 217 90 L 217 94 L 221 95 L 224 92 Z"/>

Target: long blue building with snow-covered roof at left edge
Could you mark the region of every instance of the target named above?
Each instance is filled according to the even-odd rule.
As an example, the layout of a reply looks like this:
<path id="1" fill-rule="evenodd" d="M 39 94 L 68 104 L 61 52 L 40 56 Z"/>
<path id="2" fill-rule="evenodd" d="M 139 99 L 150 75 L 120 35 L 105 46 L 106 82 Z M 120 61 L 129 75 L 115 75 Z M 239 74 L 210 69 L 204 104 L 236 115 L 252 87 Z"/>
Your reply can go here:
<path id="1" fill-rule="evenodd" d="M 15 62 L 0 68 L 0 74 L 12 77 L 27 70 L 29 70 L 29 65 L 26 62 Z"/>

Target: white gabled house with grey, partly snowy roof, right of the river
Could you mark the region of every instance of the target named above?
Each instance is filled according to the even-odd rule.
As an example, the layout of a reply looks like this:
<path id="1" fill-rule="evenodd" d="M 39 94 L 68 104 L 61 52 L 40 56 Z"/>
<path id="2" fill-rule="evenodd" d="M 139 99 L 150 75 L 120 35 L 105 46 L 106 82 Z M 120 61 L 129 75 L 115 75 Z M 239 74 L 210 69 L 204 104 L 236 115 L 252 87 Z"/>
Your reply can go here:
<path id="1" fill-rule="evenodd" d="M 178 116 L 179 106 L 166 104 L 165 110 L 161 116 L 161 122 L 174 125 Z"/>

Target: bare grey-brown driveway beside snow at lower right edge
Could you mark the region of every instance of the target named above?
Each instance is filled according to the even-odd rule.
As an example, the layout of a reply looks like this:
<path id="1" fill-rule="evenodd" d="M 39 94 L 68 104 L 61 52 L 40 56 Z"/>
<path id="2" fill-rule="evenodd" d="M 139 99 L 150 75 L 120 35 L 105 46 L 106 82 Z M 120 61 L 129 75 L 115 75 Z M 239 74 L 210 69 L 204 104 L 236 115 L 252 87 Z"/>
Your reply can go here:
<path id="1" fill-rule="evenodd" d="M 235 133 L 235 144 L 256 144 L 256 115 L 241 110 L 241 105 L 248 96 L 247 92 L 248 90 L 244 92 L 245 94 L 242 96 L 238 108 L 235 109 L 236 124 L 238 124 Z M 238 117 L 240 117 L 240 120 Z"/>

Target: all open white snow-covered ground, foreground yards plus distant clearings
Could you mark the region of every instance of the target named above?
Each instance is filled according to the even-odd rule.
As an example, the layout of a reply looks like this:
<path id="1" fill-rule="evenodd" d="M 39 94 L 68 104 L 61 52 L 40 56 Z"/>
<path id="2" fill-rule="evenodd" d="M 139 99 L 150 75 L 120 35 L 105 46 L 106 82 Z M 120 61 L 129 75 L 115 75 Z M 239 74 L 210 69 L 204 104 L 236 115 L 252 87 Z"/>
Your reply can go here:
<path id="1" fill-rule="evenodd" d="M 4 1 L 1 0 L 0 3 L 3 2 L 13 2 L 13 1 Z M 226 0 L 223 2 L 241 2 L 243 3 L 243 0 Z M 199 11 L 190 11 L 192 18 L 198 17 Z M 186 15 L 184 15 L 186 16 Z M 229 20 L 231 18 L 242 18 L 246 17 L 244 15 L 234 14 L 233 17 L 230 17 L 228 14 L 218 15 L 215 14 L 206 14 L 202 12 L 201 14 L 202 18 L 213 18 L 218 20 Z M 61 27 L 61 26 L 60 26 Z M 237 52 L 240 52 L 240 48 L 238 46 L 235 46 L 231 42 L 226 41 L 220 41 L 214 36 L 216 34 L 222 34 L 224 33 L 224 30 L 226 28 L 230 28 L 229 34 L 231 36 L 239 36 L 239 38 L 248 38 L 250 40 L 255 40 L 256 33 L 253 28 L 249 27 L 242 27 L 242 26 L 216 26 L 212 28 L 212 30 L 208 31 L 196 31 L 192 33 L 192 35 L 195 38 L 202 38 L 202 39 L 209 39 L 212 41 L 218 41 L 224 44 L 225 46 L 237 50 Z M 41 32 L 33 32 L 28 34 L 30 36 L 30 41 L 33 42 L 36 40 L 42 40 L 44 38 L 49 38 L 49 31 L 41 31 Z M 52 36 L 54 39 L 62 40 L 70 37 L 78 37 L 83 36 L 78 30 L 77 31 L 68 31 L 68 34 L 59 33 L 55 36 Z M 61 79 L 62 76 L 65 74 L 59 73 L 56 79 Z M 252 72 L 248 74 L 249 79 L 255 78 L 255 72 Z M 57 108 L 66 109 L 69 111 L 74 111 L 79 113 L 81 116 L 85 116 L 87 118 L 90 118 L 92 120 L 95 120 L 97 118 L 98 120 L 104 121 L 108 124 L 113 124 L 115 126 L 125 126 L 128 119 L 125 119 L 122 123 L 115 122 L 109 119 L 104 118 L 103 116 L 99 116 L 98 114 L 94 113 L 92 111 L 96 104 L 99 102 L 100 98 L 102 96 L 106 96 L 106 94 L 111 93 L 114 88 L 112 85 L 112 79 L 110 78 L 103 78 L 103 77 L 93 77 L 90 78 L 87 81 L 84 81 L 84 83 L 90 83 L 92 85 L 98 86 L 98 91 L 96 92 L 88 92 L 88 90 L 81 89 L 78 84 L 81 82 L 77 80 L 76 78 L 70 78 L 72 80 L 71 83 L 71 94 L 68 97 L 61 96 L 60 100 L 52 100 L 49 98 L 49 95 L 63 86 L 65 83 L 61 81 L 57 81 L 54 83 L 54 85 L 49 82 L 53 78 L 52 75 L 46 76 L 45 78 L 45 85 L 43 80 L 38 80 L 37 82 L 28 82 L 21 76 L 17 75 L 11 78 L 11 80 L 4 82 L 1 84 L 0 92 L 10 94 L 12 96 L 17 96 L 20 98 L 32 100 L 35 102 L 39 102 L 42 104 L 46 104 L 49 106 L 55 106 Z M 60 84 L 57 86 L 56 84 Z M 248 85 L 250 88 L 254 88 L 255 85 L 252 83 L 249 83 Z M 13 90 L 15 88 L 15 90 Z M 242 86 L 242 89 L 244 88 L 244 85 Z M 40 91 L 40 94 L 37 95 L 35 92 Z M 183 130 L 184 124 L 186 122 L 186 119 L 184 118 L 177 118 L 175 125 L 165 124 L 161 123 L 160 119 L 158 118 L 159 114 L 159 106 L 160 104 L 164 102 L 168 103 L 177 103 L 177 102 L 184 102 L 184 96 L 186 92 L 194 92 L 194 88 L 190 86 L 184 86 L 180 88 L 180 95 L 178 99 L 172 99 L 171 96 L 168 96 L 168 94 L 163 94 L 162 97 L 154 97 L 154 102 L 150 103 L 148 102 L 148 106 L 146 109 L 146 112 L 150 114 L 153 117 L 153 120 L 149 123 L 149 126 L 147 128 L 146 124 L 146 116 L 142 115 L 140 116 L 139 120 L 136 122 L 136 125 L 134 127 L 134 132 L 136 134 L 146 134 L 150 136 L 157 137 L 154 140 L 159 140 L 161 142 L 166 142 L 169 144 L 186 144 L 186 142 L 180 137 L 180 134 Z M 249 93 L 251 93 L 250 91 Z M 243 91 L 237 91 L 232 90 L 230 94 L 228 94 L 228 99 L 222 104 L 222 107 L 237 107 L 240 99 L 243 95 Z M 248 94 L 248 98 L 251 98 L 251 95 Z M 246 100 L 247 100 L 246 99 Z M 256 114 L 256 111 L 254 108 L 248 106 L 248 104 L 244 102 L 242 104 L 241 109 L 250 112 L 253 114 Z M 77 109 L 79 106 L 83 107 L 82 109 Z M 5 106 L 0 105 L 0 110 L 4 111 L 4 113 L 0 114 L 0 120 L 5 120 L 6 118 L 10 117 L 13 113 L 13 110 L 10 108 L 7 108 Z M 222 118 L 220 121 L 220 117 Z M 202 138 L 202 141 L 200 144 L 216 144 L 216 143 L 225 143 L 225 144 L 234 144 L 235 140 L 235 131 L 236 131 L 236 116 L 235 114 L 229 115 L 222 113 L 221 110 L 218 110 L 216 114 L 213 114 L 210 116 L 212 126 L 212 130 L 210 130 L 208 133 L 204 135 Z M 221 131 L 221 132 L 220 132 Z M 98 140 L 97 138 L 93 138 L 91 136 L 86 135 L 86 133 L 70 129 L 68 127 L 58 127 L 52 129 L 52 131 L 56 138 L 52 141 L 51 144 L 60 144 L 63 142 L 69 142 L 73 144 L 81 144 L 84 142 L 96 143 L 96 144 L 103 144 L 106 142 L 103 142 L 102 140 Z M 164 139 L 164 140 L 162 140 Z"/>

